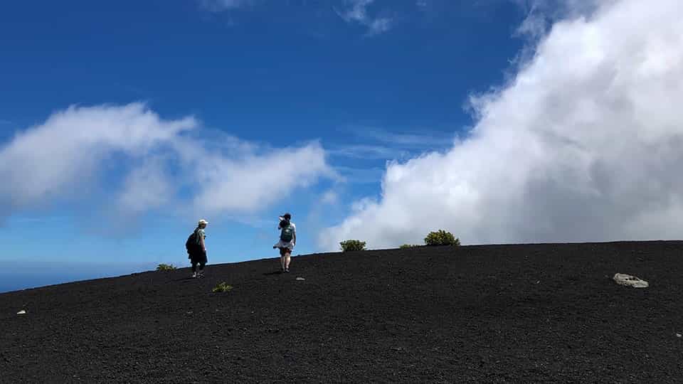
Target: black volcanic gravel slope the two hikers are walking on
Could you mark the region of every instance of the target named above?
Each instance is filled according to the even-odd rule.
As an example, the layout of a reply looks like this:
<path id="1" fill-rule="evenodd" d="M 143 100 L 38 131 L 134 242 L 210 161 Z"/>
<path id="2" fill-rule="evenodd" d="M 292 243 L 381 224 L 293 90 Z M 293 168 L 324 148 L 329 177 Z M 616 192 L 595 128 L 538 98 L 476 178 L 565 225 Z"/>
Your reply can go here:
<path id="1" fill-rule="evenodd" d="M 294 257 L 290 274 L 268 259 L 0 294 L 0 381 L 681 383 L 682 254 L 418 247 Z M 223 281 L 233 291 L 211 293 Z"/>

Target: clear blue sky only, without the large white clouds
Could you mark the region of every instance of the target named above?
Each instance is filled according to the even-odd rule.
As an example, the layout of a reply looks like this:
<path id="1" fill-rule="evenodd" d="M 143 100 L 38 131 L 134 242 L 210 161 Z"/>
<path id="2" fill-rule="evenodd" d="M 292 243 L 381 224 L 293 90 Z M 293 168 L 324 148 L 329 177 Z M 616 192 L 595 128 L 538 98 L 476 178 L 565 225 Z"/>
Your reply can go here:
<path id="1" fill-rule="evenodd" d="M 467 95 L 501 82 L 521 43 L 511 36 L 523 10 L 508 1 L 376 1 L 368 17 L 392 20 L 381 33 L 345 21 L 349 2 L 287 3 L 7 4 L 0 16 L 3 142 L 70 105 L 131 102 L 164 119 L 192 115 L 202 127 L 258 145 L 316 140 L 347 178 L 335 187 L 335 208 L 312 202 L 331 185 L 322 181 L 248 215 L 268 224 L 202 215 L 218 220 L 208 228 L 214 262 L 269 257 L 272 219 L 284 210 L 300 223 L 298 251 L 313 252 L 319 228 L 307 223 L 333 224 L 344 206 L 378 194 L 386 161 L 448 148 L 471 124 Z M 270 188 L 279 193 L 277 180 Z M 99 206 L 80 196 L 13 210 L 0 232 L 7 250 L 0 257 L 178 260 L 194 225 L 154 213 L 129 223 L 132 233 L 112 235 L 83 213 L 81 199 Z"/>

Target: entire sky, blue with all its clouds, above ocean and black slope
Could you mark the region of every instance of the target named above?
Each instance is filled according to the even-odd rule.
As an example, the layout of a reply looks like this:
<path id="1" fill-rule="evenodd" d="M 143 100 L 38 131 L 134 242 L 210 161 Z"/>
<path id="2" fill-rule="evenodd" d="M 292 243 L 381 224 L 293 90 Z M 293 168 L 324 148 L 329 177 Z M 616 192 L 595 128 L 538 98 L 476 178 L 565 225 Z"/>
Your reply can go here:
<path id="1" fill-rule="evenodd" d="M 273 257 L 285 211 L 300 254 L 677 238 L 683 15 L 643 4 L 5 4 L 0 262 L 183 265 L 198 218 Z"/>

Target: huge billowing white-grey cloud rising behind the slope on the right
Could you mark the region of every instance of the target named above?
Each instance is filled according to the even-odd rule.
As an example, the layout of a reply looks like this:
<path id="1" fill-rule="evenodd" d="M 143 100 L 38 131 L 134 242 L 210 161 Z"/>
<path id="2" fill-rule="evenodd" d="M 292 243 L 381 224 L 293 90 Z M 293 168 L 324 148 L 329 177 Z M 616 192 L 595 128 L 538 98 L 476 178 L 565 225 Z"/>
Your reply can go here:
<path id="1" fill-rule="evenodd" d="M 680 238 L 682 19 L 679 0 L 608 0 L 556 21 L 508 85 L 472 99 L 470 136 L 389 164 L 381 198 L 320 245 L 439 228 L 470 244 Z"/>

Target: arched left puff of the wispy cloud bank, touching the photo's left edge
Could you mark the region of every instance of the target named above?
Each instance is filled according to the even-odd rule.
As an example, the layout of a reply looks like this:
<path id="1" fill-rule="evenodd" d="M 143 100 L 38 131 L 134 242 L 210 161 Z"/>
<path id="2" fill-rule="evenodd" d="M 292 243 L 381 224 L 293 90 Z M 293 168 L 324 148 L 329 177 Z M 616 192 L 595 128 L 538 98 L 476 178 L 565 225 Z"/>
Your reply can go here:
<path id="1" fill-rule="evenodd" d="M 69 107 L 0 149 L 0 200 L 23 207 L 68 195 L 97 178 L 111 156 L 146 156 L 196 124 L 192 117 L 163 121 L 137 103 Z"/>

